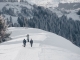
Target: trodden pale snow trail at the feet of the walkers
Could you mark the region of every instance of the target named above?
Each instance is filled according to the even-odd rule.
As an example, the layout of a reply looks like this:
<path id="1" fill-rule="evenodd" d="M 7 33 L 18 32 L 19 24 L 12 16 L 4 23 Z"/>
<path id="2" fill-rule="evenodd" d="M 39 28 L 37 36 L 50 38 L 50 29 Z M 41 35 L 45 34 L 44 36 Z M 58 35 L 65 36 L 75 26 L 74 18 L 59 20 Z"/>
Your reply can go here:
<path id="1" fill-rule="evenodd" d="M 40 51 L 39 43 L 34 43 L 33 47 L 30 47 L 30 44 L 27 43 L 26 47 L 21 48 L 14 60 L 39 60 Z"/>

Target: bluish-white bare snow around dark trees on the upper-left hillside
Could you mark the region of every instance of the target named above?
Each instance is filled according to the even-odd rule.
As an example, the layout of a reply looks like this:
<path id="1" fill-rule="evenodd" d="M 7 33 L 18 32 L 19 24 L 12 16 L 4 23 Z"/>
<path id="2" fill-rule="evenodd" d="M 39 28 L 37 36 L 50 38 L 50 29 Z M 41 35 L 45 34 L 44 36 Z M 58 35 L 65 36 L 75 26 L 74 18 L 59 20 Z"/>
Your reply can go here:
<path id="1" fill-rule="evenodd" d="M 6 7 L 7 9 L 13 8 L 14 9 L 14 14 L 16 16 L 12 16 L 12 21 L 14 23 L 18 23 L 17 18 L 18 18 L 18 13 L 21 13 L 21 8 L 22 7 L 27 7 L 28 9 L 32 9 L 32 6 L 29 3 L 18 3 L 18 2 L 0 2 L 0 10 L 2 10 L 3 7 Z M 4 14 L 5 19 L 10 20 L 10 15 Z"/>

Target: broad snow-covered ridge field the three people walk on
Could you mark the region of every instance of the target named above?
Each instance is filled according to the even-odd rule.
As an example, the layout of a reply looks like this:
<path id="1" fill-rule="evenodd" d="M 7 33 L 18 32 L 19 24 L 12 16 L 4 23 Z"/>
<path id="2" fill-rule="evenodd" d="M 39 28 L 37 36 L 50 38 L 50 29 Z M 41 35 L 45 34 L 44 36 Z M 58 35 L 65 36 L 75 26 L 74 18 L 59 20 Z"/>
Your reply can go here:
<path id="1" fill-rule="evenodd" d="M 80 48 L 56 34 L 34 28 L 9 28 L 12 40 L 0 44 L 0 60 L 80 60 Z M 30 35 L 34 43 L 23 39 Z"/>

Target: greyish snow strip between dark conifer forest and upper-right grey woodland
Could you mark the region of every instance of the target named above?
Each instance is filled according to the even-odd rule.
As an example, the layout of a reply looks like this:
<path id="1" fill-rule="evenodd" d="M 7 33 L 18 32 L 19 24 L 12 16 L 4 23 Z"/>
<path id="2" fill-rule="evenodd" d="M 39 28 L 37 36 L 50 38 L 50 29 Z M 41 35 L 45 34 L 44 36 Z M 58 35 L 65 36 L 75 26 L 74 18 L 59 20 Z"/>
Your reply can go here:
<path id="1" fill-rule="evenodd" d="M 62 15 L 66 15 L 67 18 L 72 18 L 73 20 L 79 20 L 80 21 L 80 15 L 77 15 L 77 11 L 79 9 L 75 9 L 75 10 L 58 10 L 56 8 L 49 8 L 53 13 L 56 13 L 58 17 L 61 17 Z M 62 13 L 61 11 L 66 11 L 68 12 L 68 14 L 66 13 Z"/>

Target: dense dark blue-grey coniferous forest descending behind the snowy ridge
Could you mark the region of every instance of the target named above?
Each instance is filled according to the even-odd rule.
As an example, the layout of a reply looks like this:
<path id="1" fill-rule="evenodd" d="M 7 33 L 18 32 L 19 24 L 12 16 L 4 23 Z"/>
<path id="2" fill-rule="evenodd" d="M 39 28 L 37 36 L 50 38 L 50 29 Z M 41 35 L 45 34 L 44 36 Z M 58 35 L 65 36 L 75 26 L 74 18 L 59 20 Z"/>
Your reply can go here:
<path id="1" fill-rule="evenodd" d="M 33 13 L 33 18 L 25 21 L 26 24 L 24 17 L 18 17 L 20 26 L 24 25 L 53 32 L 80 47 L 80 21 L 68 19 L 65 15 L 58 17 L 56 13 L 52 13 L 49 9 L 41 6 L 34 5 Z"/>

